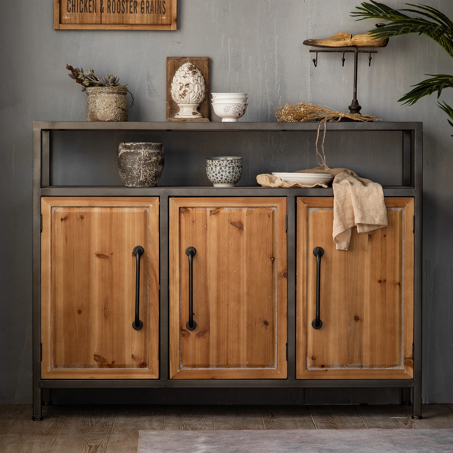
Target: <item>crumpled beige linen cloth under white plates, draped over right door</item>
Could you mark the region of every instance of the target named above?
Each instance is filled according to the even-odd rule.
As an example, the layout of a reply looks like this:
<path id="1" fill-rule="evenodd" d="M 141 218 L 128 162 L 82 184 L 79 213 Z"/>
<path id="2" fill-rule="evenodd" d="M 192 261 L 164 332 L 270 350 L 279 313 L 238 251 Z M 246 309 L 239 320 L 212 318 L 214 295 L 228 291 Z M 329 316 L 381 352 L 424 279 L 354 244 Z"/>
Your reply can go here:
<path id="1" fill-rule="evenodd" d="M 360 178 L 349 169 L 315 167 L 294 173 L 332 173 L 333 183 L 333 241 L 337 250 L 348 250 L 352 227 L 367 233 L 388 226 L 387 209 L 381 184 Z M 271 174 L 259 174 L 256 181 L 263 187 L 327 187 L 325 184 L 303 186 L 285 183 Z"/>

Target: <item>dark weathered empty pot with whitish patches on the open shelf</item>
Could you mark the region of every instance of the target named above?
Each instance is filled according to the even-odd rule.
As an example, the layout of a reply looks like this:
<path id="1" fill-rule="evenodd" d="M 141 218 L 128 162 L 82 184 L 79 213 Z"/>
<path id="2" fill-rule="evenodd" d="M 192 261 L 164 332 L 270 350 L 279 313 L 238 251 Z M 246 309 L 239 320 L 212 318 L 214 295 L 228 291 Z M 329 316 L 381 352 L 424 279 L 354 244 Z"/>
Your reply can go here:
<path id="1" fill-rule="evenodd" d="M 118 171 L 126 187 L 156 187 L 163 169 L 162 143 L 118 145 Z"/>

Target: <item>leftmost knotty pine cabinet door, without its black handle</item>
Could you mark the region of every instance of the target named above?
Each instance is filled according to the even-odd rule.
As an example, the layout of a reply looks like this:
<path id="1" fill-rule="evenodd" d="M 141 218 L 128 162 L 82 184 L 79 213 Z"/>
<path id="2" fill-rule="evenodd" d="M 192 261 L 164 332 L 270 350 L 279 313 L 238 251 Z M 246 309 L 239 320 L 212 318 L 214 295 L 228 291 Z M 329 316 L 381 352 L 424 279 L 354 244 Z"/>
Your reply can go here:
<path id="1" fill-rule="evenodd" d="M 157 378 L 159 198 L 43 197 L 41 214 L 41 377 Z"/>

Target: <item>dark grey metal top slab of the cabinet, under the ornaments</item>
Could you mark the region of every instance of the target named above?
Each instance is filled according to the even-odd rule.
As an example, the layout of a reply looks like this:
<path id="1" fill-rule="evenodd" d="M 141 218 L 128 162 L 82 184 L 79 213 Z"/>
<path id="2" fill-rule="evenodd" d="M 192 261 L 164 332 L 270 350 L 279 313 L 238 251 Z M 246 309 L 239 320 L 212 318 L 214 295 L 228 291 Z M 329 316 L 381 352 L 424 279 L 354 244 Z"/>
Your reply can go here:
<path id="1" fill-rule="evenodd" d="M 35 130 L 318 130 L 319 122 L 100 122 L 100 121 L 34 121 Z M 323 126 L 321 126 L 323 129 Z M 367 121 L 329 122 L 328 130 L 422 130 L 422 122 Z"/>

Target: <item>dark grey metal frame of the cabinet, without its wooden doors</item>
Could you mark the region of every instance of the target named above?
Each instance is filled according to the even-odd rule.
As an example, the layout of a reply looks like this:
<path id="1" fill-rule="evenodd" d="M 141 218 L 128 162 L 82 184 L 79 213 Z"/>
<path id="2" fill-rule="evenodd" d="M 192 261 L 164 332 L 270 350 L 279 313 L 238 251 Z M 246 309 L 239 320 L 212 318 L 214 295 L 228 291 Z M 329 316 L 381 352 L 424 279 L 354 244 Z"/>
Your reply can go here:
<path id="1" fill-rule="evenodd" d="M 299 197 L 332 197 L 332 188 L 262 187 L 155 187 L 53 186 L 53 131 L 294 131 L 316 133 L 318 123 L 100 123 L 34 122 L 33 182 L 33 418 L 42 419 L 43 390 L 51 388 L 309 388 L 309 387 L 397 387 L 403 399 L 410 400 L 413 389 L 413 416 L 421 418 L 421 263 L 422 263 L 422 123 L 415 122 L 339 122 L 328 123 L 327 130 L 401 132 L 401 181 L 399 186 L 384 186 L 386 197 L 414 198 L 414 376 L 411 379 L 296 379 L 296 204 Z M 235 154 L 240 152 L 236 149 Z M 257 153 L 260 151 L 257 150 Z M 386 161 L 380 164 L 386 171 Z M 286 379 L 171 379 L 169 369 L 169 199 L 172 197 L 285 197 L 287 200 L 287 378 Z M 43 379 L 41 377 L 41 197 L 159 197 L 159 378 L 158 379 Z"/>

